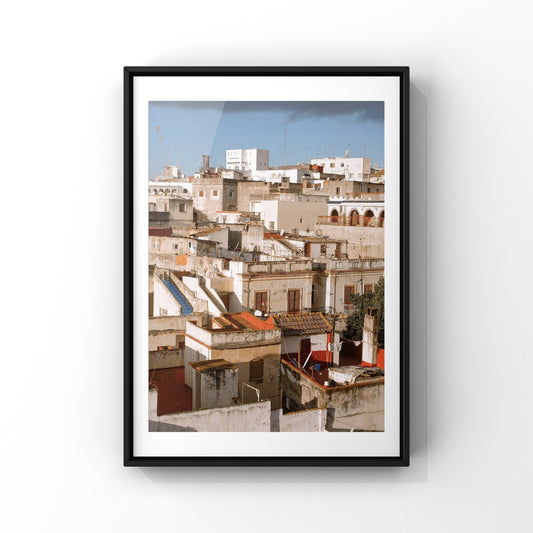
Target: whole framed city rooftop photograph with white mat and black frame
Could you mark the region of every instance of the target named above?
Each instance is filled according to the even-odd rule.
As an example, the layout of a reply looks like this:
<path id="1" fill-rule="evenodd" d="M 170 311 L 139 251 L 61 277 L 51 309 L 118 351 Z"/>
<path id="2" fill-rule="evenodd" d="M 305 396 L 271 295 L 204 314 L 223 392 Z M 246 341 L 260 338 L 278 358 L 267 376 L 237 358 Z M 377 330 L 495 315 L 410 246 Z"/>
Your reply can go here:
<path id="1" fill-rule="evenodd" d="M 125 67 L 126 466 L 409 464 L 408 171 L 408 67 Z"/>

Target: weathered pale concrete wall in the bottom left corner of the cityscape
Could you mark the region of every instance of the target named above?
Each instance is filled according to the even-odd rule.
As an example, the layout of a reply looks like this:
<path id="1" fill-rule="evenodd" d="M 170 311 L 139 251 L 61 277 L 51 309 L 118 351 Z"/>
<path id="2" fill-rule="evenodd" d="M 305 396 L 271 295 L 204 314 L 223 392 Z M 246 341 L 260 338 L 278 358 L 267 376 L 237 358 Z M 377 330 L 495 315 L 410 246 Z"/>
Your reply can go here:
<path id="1" fill-rule="evenodd" d="M 270 402 L 157 416 L 157 391 L 149 392 L 150 431 L 270 431 Z"/>

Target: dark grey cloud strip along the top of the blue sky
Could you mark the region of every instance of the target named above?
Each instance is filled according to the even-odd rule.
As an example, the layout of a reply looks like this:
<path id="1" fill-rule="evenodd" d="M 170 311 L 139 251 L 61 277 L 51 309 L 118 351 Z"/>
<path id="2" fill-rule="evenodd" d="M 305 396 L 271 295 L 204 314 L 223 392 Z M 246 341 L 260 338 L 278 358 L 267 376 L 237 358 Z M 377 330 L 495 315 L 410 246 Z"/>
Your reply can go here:
<path id="1" fill-rule="evenodd" d="M 326 117 L 353 117 L 363 122 L 383 122 L 383 102 L 151 102 L 152 105 L 224 113 L 284 113 L 284 122 Z"/>

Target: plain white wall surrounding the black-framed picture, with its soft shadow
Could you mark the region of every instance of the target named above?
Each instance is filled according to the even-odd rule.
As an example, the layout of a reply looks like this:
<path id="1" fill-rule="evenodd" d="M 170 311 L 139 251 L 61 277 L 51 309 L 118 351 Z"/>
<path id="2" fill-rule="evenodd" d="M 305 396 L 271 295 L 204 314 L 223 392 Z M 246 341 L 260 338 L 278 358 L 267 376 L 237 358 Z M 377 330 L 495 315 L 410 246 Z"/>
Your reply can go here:
<path id="1" fill-rule="evenodd" d="M 324 3 L 311 0 L 305 9 L 286 1 L 257 9 L 260 16 L 250 2 L 168 0 L 4 8 L 1 175 L 39 171 L 23 179 L 33 217 L 21 217 L 20 202 L 5 194 L 0 210 L 10 252 L 1 264 L 2 353 L 20 353 L 29 331 L 38 340 L 23 367 L 20 358 L 3 360 L 2 529 L 200 533 L 253 524 L 263 533 L 283 524 L 318 532 L 327 525 L 309 509 L 319 494 L 335 524 L 365 533 L 527 531 L 529 3 L 333 0 L 325 15 Z M 324 19 L 321 38 L 274 38 L 280 14 L 287 27 Z M 412 67 L 411 467 L 121 466 L 125 64 Z M 288 160 L 297 125 L 287 124 Z M 451 157 L 457 172 L 449 172 Z M 30 250 L 22 234 L 33 236 Z M 28 250 L 32 261 L 22 260 Z M 32 285 L 38 319 L 13 282 L 36 274 L 46 280 Z M 74 294 L 82 304 L 73 307 Z M 228 513 L 236 505 L 238 520 Z M 275 515 L 258 520 L 266 508 Z"/>

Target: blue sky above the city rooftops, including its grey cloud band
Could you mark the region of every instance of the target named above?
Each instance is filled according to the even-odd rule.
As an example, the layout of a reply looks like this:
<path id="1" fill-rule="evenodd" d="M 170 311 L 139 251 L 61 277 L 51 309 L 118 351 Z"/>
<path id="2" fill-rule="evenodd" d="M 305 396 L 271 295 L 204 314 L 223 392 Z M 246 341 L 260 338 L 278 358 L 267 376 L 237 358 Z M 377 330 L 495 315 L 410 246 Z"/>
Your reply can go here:
<path id="1" fill-rule="evenodd" d="M 383 102 L 150 102 L 149 173 L 179 164 L 190 176 L 202 154 L 211 166 L 225 163 L 238 148 L 270 150 L 270 164 L 314 157 L 363 155 L 383 166 Z M 161 137 L 161 138 L 160 138 Z"/>

